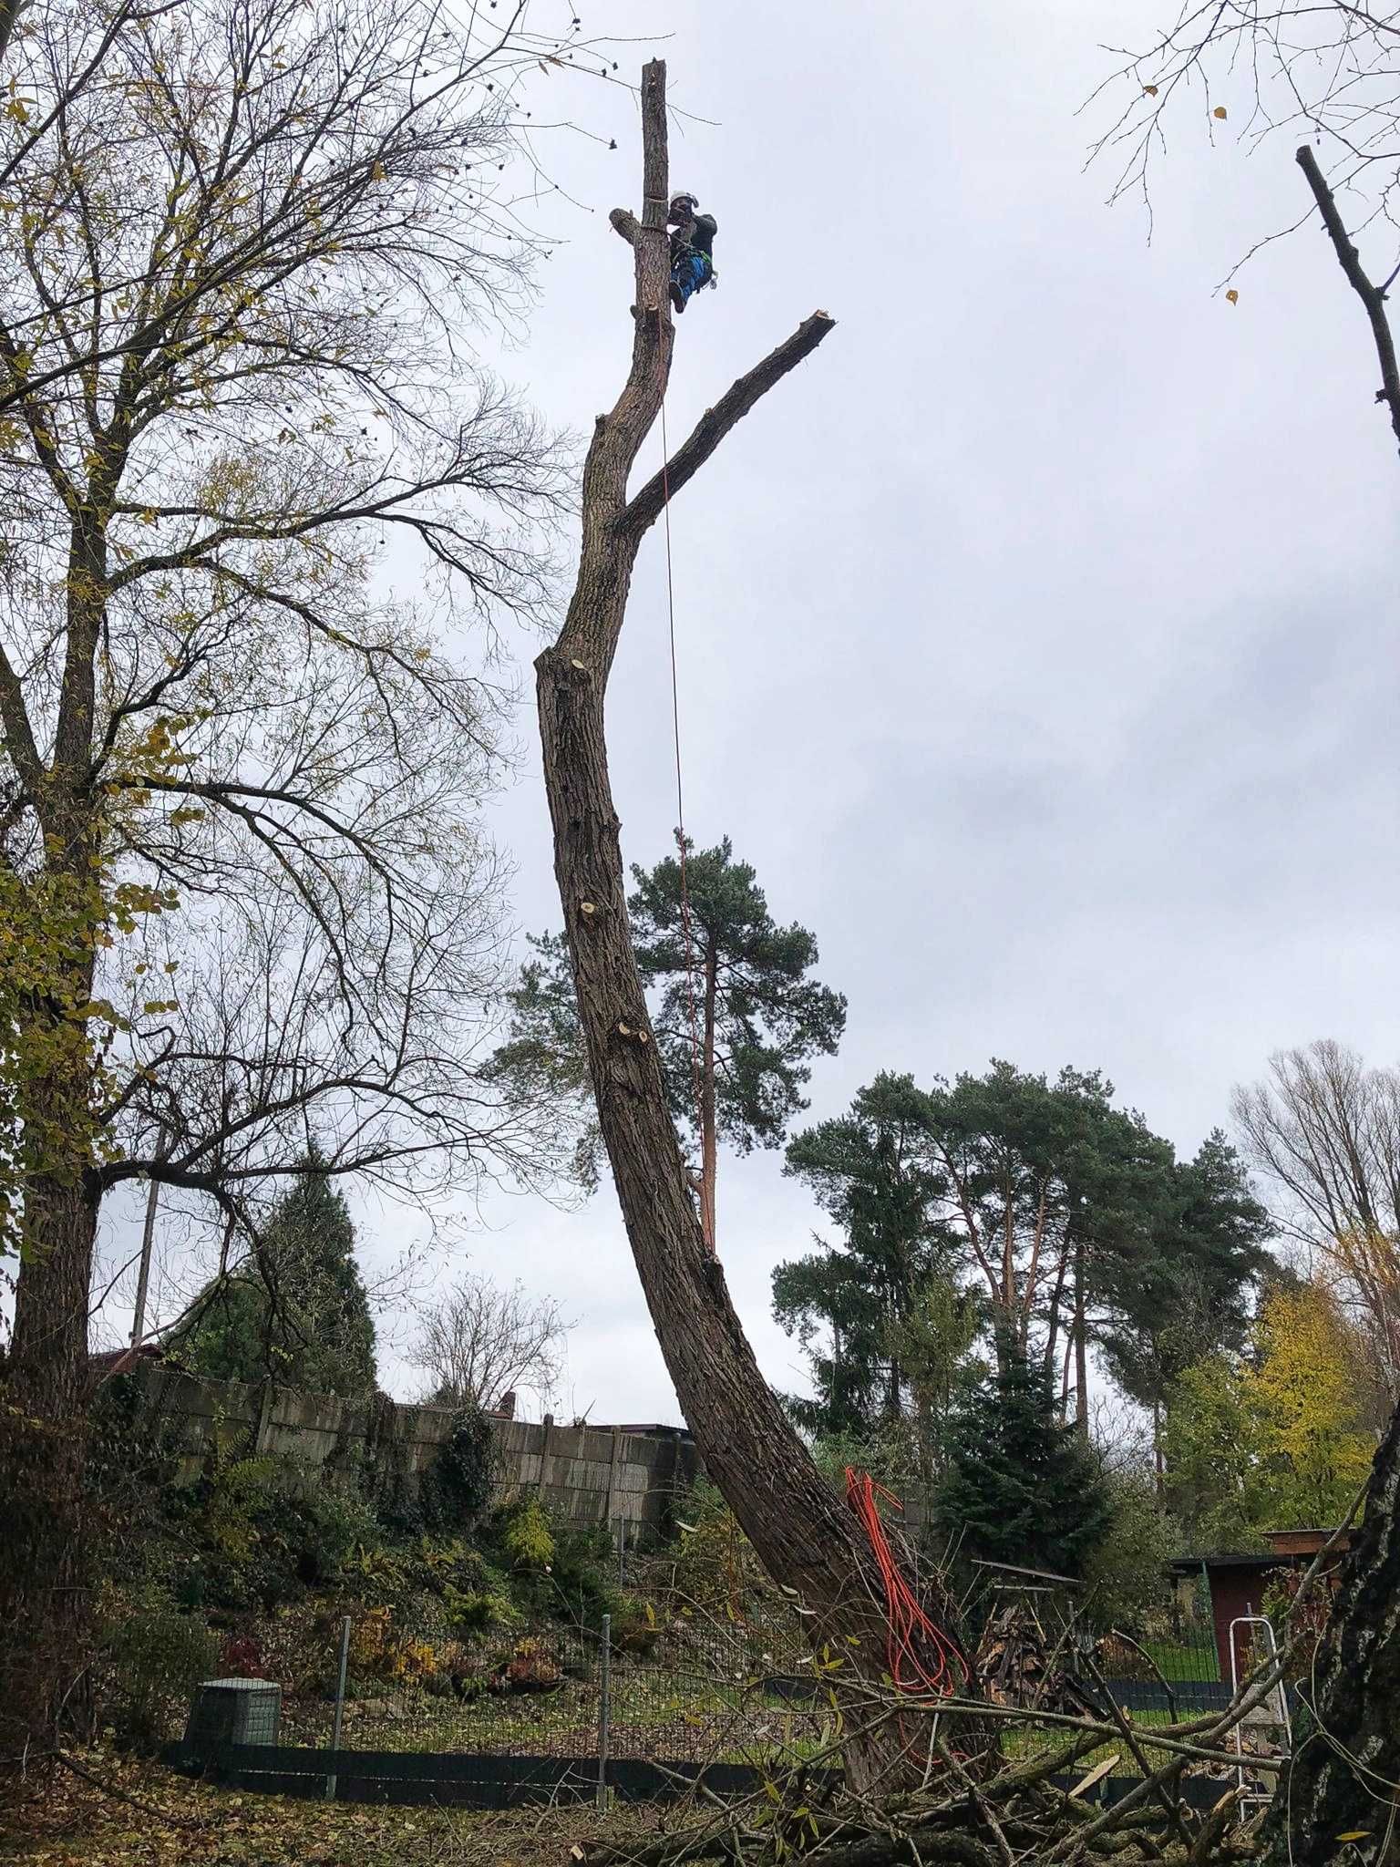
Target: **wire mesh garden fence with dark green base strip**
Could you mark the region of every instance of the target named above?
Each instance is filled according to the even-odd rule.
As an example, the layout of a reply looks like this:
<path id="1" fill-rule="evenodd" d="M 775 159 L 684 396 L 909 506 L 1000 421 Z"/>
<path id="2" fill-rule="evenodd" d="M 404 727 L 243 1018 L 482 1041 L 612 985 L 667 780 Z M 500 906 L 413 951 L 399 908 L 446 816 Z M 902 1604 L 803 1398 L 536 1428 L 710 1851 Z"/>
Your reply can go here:
<path id="1" fill-rule="evenodd" d="M 670 1565 L 625 1563 L 616 1579 L 629 1587 L 601 1626 L 420 1598 L 291 1615 L 286 1637 L 256 1650 L 231 1639 L 226 1671 L 280 1686 L 280 1729 L 261 1757 L 233 1746 L 217 1766 L 252 1787 L 323 1794 L 340 1783 L 329 1792 L 345 1794 L 349 1783 L 379 1796 L 396 1783 L 420 1796 L 433 1785 L 433 1796 L 491 1805 L 497 1792 L 666 1794 L 698 1772 L 737 1779 L 836 1761 L 831 1695 L 791 1604 L 747 1587 L 698 1604 L 681 1598 Z M 1008 1755 L 1049 1736 L 1036 1710 L 1105 1721 L 1126 1710 L 1146 1736 L 1230 1701 L 1228 1658 L 1223 1677 L 1200 1613 L 1163 1604 L 1126 1630 L 1071 1593 L 1006 1581 L 965 1606 L 976 1690 L 1032 1714 L 1004 1729 Z"/>

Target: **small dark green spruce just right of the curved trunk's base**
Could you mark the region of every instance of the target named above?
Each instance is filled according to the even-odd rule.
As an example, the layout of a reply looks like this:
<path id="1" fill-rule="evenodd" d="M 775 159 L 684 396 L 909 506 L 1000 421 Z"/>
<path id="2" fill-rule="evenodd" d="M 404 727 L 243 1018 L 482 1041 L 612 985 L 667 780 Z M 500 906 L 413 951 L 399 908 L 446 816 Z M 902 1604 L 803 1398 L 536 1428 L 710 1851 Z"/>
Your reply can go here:
<path id="1" fill-rule="evenodd" d="M 1113 1516 L 1094 1456 L 1057 1419 L 1049 1374 L 1002 1337 L 997 1370 L 948 1426 L 937 1516 L 965 1559 L 1079 1576 Z"/>

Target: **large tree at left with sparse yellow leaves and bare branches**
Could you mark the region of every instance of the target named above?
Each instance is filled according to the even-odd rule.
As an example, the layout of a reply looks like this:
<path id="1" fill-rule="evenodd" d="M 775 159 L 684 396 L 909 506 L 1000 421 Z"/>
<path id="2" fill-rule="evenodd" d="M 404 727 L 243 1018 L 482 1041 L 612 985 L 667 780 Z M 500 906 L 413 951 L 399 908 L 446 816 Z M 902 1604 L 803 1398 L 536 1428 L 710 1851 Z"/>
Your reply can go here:
<path id="1" fill-rule="evenodd" d="M 78 0 L 9 41 L 0 1243 L 24 1247 L 6 1421 L 37 1426 L 6 1454 L 7 1673 L 35 1641 L 62 1665 L 82 1600 L 112 1187 L 151 1174 L 256 1240 L 308 1139 L 409 1191 L 547 1141 L 472 1066 L 502 693 L 446 646 L 539 612 L 566 489 L 461 342 L 528 291 L 480 179 L 554 50 L 523 13 Z M 34 1729 L 56 1678 L 19 1671 Z"/>

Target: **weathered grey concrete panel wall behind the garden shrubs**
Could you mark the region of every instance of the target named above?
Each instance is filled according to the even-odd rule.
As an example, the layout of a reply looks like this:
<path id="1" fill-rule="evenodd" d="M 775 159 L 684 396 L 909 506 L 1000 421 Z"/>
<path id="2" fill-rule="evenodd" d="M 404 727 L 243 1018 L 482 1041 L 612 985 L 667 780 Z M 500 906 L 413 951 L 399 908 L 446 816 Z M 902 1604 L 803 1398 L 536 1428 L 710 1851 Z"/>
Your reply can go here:
<path id="1" fill-rule="evenodd" d="M 353 1466 L 370 1447 L 416 1475 L 452 1428 L 450 1408 L 355 1404 L 287 1387 L 209 1382 L 170 1369 L 142 1369 L 149 1404 L 177 1434 L 181 1477 L 190 1481 L 224 1432 L 304 1466 Z M 551 1510 L 579 1523 L 622 1522 L 627 1540 L 670 1527 L 672 1501 L 696 1471 L 689 1434 L 627 1432 L 622 1426 L 556 1426 L 493 1421 L 497 1490 L 536 1492 Z"/>

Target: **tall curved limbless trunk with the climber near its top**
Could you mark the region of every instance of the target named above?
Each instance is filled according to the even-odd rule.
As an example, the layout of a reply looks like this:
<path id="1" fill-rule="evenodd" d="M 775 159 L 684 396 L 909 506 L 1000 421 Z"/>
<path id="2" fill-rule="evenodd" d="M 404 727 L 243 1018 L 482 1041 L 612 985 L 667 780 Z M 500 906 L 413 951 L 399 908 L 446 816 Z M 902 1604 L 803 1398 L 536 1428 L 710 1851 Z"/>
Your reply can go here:
<path id="1" fill-rule="evenodd" d="M 657 1341 L 706 1471 L 769 1574 L 812 1609 L 805 1624 L 814 1643 L 829 1641 L 833 1650 L 840 1643 L 838 1677 L 875 1680 L 887 1667 L 887 1628 L 868 1548 L 763 1380 L 724 1271 L 706 1247 L 627 926 L 603 698 L 637 549 L 665 497 L 657 474 L 627 498 L 627 474 L 661 409 L 674 344 L 663 62 L 642 71 L 642 218 L 625 209 L 610 217 L 635 256 L 631 370 L 612 411 L 597 416 L 582 474 L 579 583 L 558 640 L 536 661 L 554 874 L 603 1143 Z M 706 411 L 668 465 L 672 495 L 831 329 L 833 319 L 814 312 Z M 887 1725 L 879 1744 L 847 1753 L 857 1777 L 872 1783 L 889 1768 L 890 1742 Z"/>

